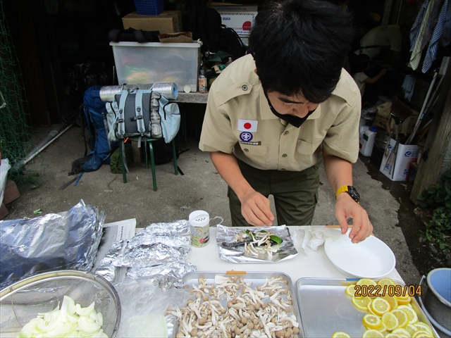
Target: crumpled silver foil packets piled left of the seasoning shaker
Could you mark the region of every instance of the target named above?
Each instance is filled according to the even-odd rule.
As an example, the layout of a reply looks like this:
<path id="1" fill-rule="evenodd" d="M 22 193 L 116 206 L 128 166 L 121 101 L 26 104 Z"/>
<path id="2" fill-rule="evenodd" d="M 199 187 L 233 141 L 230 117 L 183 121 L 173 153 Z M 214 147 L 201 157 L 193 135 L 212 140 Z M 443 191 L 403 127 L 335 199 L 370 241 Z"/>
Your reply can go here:
<path id="1" fill-rule="evenodd" d="M 161 289 L 183 287 L 183 275 L 197 270 L 185 261 L 191 251 L 189 233 L 187 220 L 153 223 L 128 241 L 114 242 L 95 272 L 113 284 L 123 277 L 147 277 Z M 125 276 L 120 276 L 124 269 Z"/>

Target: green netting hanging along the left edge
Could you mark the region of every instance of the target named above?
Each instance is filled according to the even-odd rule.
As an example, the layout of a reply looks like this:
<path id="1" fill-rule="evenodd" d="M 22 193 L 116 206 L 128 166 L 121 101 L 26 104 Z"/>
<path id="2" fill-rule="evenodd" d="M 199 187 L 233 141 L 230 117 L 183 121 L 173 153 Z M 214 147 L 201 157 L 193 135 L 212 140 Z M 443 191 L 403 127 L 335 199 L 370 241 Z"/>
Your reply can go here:
<path id="1" fill-rule="evenodd" d="M 0 0 L 0 149 L 1 157 L 8 158 L 11 169 L 8 178 L 23 177 L 21 161 L 26 156 L 30 139 L 25 90 L 21 84 L 20 66 L 6 23 L 3 1 Z"/>

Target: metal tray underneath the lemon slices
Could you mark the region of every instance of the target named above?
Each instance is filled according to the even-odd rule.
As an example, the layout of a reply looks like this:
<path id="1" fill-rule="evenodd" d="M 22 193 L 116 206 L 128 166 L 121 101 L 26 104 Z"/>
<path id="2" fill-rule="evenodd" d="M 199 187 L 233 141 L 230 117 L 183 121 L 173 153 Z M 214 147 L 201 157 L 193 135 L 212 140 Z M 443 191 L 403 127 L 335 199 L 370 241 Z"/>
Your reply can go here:
<path id="1" fill-rule="evenodd" d="M 370 312 L 359 310 L 352 303 L 352 296 L 346 294 L 347 286 L 356 284 L 357 281 L 358 279 L 354 278 L 300 278 L 297 280 L 295 293 L 304 337 L 332 337 L 335 332 L 346 332 L 350 337 L 363 337 L 367 329 L 362 319 L 366 313 Z M 401 286 L 400 289 L 404 289 L 403 282 L 397 280 L 394 282 Z M 407 292 L 408 290 L 407 287 Z M 412 292 L 412 287 L 410 291 Z M 387 290 L 385 294 L 388 294 Z M 414 297 L 411 299 L 410 305 L 417 314 L 418 322 L 428 325 L 431 333 L 433 332 L 431 337 L 439 337 L 416 299 Z M 426 330 L 424 324 L 419 324 L 418 329 Z M 385 331 L 381 337 L 388 332 Z"/>

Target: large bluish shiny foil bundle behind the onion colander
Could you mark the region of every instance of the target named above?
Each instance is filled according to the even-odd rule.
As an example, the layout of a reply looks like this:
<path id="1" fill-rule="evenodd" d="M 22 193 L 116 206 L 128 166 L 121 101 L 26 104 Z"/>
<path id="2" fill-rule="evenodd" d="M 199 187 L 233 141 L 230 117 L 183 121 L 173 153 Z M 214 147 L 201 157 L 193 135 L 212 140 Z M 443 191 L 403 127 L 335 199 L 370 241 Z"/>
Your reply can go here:
<path id="1" fill-rule="evenodd" d="M 83 200 L 62 213 L 0 221 L 0 288 L 36 273 L 91 270 L 104 211 Z"/>

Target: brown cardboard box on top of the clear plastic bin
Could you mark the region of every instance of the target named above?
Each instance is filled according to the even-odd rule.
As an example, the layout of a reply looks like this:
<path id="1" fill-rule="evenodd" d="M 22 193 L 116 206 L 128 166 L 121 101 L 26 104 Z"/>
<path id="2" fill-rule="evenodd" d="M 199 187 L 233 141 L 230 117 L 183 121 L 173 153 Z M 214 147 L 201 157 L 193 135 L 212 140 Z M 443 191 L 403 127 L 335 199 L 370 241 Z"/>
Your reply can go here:
<path id="1" fill-rule="evenodd" d="M 180 32 L 182 15 L 180 11 L 165 11 L 160 15 L 139 15 L 136 12 L 122 18 L 124 29 L 156 31 L 160 34 Z"/>

